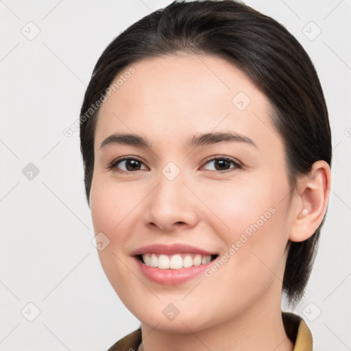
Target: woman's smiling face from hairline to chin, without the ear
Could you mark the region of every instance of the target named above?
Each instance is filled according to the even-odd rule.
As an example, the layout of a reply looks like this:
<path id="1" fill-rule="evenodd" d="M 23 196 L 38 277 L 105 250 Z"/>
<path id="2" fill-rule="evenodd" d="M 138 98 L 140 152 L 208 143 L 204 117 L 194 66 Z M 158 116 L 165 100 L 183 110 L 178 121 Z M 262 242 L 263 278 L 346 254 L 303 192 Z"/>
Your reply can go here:
<path id="1" fill-rule="evenodd" d="M 214 56 L 132 66 L 95 130 L 90 208 L 112 287 L 160 330 L 280 309 L 293 197 L 269 101 Z"/>

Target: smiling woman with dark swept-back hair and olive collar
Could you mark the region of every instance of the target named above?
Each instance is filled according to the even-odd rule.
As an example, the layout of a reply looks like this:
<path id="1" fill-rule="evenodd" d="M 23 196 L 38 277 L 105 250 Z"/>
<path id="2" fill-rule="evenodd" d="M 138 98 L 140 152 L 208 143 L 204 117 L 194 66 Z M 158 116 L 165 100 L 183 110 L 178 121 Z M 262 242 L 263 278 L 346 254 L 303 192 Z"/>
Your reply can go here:
<path id="1" fill-rule="evenodd" d="M 81 111 L 106 276 L 141 328 L 110 350 L 312 350 L 294 306 L 330 193 L 310 58 L 232 0 L 174 2 L 99 58 Z"/>

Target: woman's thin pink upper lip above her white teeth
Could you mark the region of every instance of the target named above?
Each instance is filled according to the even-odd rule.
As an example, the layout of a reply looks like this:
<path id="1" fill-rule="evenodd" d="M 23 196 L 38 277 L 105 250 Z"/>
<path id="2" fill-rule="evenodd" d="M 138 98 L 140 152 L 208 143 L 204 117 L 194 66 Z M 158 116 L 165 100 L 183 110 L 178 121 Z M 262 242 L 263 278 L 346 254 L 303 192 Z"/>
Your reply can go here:
<path id="1" fill-rule="evenodd" d="M 154 254 L 182 254 L 182 253 L 194 253 L 202 255 L 215 255 L 214 252 L 209 252 L 207 250 L 200 249 L 199 247 L 177 243 L 172 245 L 165 244 L 152 244 L 139 247 L 132 252 L 132 256 L 137 256 L 141 254 L 154 253 Z"/>

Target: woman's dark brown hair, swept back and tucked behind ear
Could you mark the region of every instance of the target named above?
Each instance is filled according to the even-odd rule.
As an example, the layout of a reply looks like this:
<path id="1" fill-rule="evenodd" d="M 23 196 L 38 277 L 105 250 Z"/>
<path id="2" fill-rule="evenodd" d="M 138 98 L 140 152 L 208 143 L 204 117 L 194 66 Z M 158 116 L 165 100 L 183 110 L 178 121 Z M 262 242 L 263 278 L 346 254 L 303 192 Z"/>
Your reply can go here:
<path id="1" fill-rule="evenodd" d="M 95 65 L 80 125 L 88 203 L 99 112 L 92 104 L 106 95 L 114 77 L 133 62 L 177 53 L 223 58 L 254 80 L 274 108 L 271 118 L 285 143 L 291 191 L 313 162 L 325 160 L 330 165 L 330 126 L 322 87 L 298 40 L 274 19 L 238 1 L 174 1 L 125 29 Z M 291 305 L 304 293 L 323 223 L 324 219 L 312 237 L 293 242 L 289 248 L 283 291 Z"/>

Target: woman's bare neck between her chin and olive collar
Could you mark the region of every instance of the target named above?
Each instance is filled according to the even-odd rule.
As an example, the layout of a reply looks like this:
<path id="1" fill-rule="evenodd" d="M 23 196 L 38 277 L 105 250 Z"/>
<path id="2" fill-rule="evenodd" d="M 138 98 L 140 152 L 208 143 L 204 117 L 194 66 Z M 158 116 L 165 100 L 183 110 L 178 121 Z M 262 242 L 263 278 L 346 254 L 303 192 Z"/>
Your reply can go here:
<path id="1" fill-rule="evenodd" d="M 280 296 L 271 287 L 261 300 L 243 313 L 206 330 L 189 333 L 158 330 L 141 324 L 144 351 L 293 351 L 282 323 Z M 279 291 L 280 289 L 278 289 Z M 273 293 L 273 295 L 272 295 Z"/>

